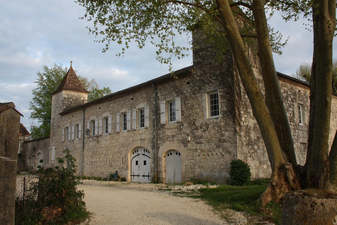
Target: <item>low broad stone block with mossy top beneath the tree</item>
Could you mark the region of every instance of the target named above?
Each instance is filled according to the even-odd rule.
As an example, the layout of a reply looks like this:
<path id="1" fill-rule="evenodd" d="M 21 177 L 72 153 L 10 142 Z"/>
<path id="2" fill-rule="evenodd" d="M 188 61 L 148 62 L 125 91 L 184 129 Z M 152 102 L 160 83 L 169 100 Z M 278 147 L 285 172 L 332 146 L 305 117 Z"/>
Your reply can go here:
<path id="1" fill-rule="evenodd" d="M 285 193 L 281 224 L 337 224 L 337 194 L 321 189 Z"/>

